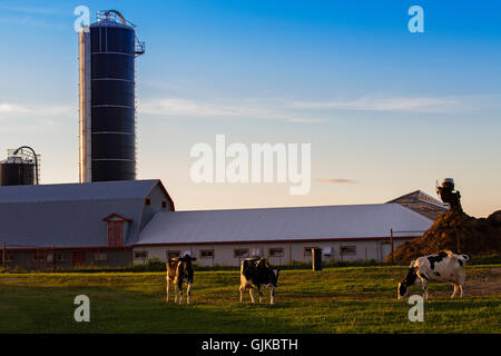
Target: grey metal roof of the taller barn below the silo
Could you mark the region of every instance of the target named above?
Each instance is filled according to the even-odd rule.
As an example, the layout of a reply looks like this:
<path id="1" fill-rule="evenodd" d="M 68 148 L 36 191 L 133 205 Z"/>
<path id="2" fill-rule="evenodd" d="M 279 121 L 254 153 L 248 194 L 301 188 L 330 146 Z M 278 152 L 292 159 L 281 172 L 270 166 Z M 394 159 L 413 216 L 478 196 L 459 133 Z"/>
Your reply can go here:
<path id="1" fill-rule="evenodd" d="M 126 245 L 136 241 L 145 198 L 159 180 L 0 187 L 0 241 L 7 247 L 107 246 L 107 224 L 131 219 Z"/>

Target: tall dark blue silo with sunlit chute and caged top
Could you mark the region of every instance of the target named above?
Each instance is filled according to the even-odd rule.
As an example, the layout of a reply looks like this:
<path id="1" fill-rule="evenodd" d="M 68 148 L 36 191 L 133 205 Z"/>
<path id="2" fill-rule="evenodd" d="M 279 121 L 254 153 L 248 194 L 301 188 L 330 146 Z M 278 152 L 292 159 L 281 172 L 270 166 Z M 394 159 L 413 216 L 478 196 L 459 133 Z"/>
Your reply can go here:
<path id="1" fill-rule="evenodd" d="M 115 10 L 79 32 L 80 181 L 136 179 L 136 27 Z"/>

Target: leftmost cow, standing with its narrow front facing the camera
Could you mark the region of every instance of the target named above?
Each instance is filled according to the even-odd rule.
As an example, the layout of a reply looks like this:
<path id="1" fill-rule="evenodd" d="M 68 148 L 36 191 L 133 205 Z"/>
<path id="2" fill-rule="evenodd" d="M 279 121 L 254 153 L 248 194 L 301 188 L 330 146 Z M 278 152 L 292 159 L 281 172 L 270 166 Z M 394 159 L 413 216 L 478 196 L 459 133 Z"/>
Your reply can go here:
<path id="1" fill-rule="evenodd" d="M 169 258 L 167 261 L 167 276 L 165 280 L 167 281 L 166 290 L 167 297 L 166 303 L 169 301 L 169 285 L 174 283 L 174 301 L 177 303 L 177 297 L 179 294 L 179 304 L 183 303 L 183 284 L 187 285 L 186 288 L 186 303 L 189 304 L 189 298 L 191 296 L 191 285 L 193 285 L 193 267 L 191 261 L 196 260 L 195 257 L 185 255 L 183 258 Z"/>

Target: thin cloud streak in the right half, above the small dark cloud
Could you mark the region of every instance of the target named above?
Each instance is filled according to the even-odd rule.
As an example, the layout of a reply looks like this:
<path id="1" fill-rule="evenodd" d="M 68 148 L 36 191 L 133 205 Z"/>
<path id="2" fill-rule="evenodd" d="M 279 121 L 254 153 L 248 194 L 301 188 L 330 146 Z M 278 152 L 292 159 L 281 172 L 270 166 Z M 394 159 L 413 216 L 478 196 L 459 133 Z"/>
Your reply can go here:
<path id="1" fill-rule="evenodd" d="M 334 109 L 361 111 L 410 111 L 445 113 L 473 109 L 474 106 L 460 98 L 426 97 L 362 97 L 356 99 L 335 99 L 330 101 L 295 101 L 297 109 Z"/>

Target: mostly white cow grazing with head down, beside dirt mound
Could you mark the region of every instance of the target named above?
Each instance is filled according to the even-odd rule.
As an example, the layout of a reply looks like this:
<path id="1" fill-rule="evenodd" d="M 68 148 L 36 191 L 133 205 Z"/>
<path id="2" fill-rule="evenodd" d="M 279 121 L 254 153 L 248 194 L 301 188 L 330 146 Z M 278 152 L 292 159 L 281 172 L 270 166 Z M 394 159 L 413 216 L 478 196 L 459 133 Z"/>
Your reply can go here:
<path id="1" fill-rule="evenodd" d="M 454 285 L 455 297 L 458 287 L 463 296 L 464 281 L 466 280 L 465 266 L 470 259 L 468 255 L 454 255 L 450 250 L 440 251 L 436 255 L 422 256 L 411 263 L 404 280 L 399 283 L 397 298 L 405 297 L 409 288 L 421 281 L 423 287 L 423 297 L 428 299 L 428 284 L 430 281 L 450 281 Z"/>

